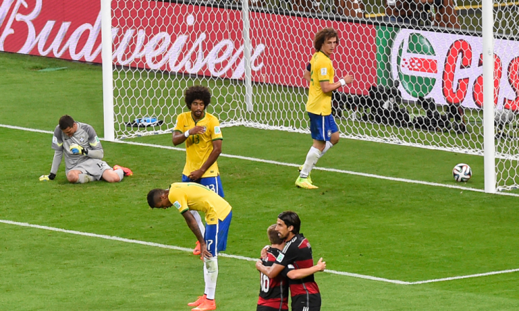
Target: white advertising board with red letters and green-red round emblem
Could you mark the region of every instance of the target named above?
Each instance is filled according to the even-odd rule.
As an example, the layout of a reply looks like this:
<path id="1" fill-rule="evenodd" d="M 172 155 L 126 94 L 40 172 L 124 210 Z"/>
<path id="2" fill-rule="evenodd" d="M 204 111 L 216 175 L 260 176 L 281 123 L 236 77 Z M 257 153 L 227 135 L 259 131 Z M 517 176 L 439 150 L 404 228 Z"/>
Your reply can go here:
<path id="1" fill-rule="evenodd" d="M 401 29 L 393 40 L 392 79 L 401 82 L 404 99 L 482 108 L 482 37 Z M 494 104 L 516 111 L 519 42 L 495 39 L 494 53 Z"/>

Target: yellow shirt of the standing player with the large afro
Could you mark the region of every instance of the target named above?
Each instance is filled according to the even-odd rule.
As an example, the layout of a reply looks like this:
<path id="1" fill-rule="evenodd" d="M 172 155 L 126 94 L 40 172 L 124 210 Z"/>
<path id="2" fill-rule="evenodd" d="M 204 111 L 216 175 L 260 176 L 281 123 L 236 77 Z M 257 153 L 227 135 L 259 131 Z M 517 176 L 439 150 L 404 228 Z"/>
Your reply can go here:
<path id="1" fill-rule="evenodd" d="M 183 174 L 190 176 L 192 171 L 200 169 L 209 158 L 212 151 L 213 140 L 223 140 L 221 135 L 220 122 L 217 117 L 204 111 L 203 117 L 194 122 L 191 111 L 181 113 L 176 118 L 174 131 L 184 133 L 194 126 L 205 126 L 206 133 L 190 135 L 185 140 L 185 166 Z M 218 164 L 215 161 L 209 169 L 203 173 L 202 178 L 219 176 Z"/>

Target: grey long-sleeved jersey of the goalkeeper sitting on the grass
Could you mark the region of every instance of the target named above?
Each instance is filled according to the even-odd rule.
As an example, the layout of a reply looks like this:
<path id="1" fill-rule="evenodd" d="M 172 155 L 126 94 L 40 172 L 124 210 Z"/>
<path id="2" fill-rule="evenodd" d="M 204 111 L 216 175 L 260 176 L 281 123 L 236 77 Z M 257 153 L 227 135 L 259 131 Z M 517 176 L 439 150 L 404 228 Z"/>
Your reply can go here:
<path id="1" fill-rule="evenodd" d="M 93 127 L 85 123 L 75 123 L 78 124 L 78 131 L 75 131 L 72 137 L 65 135 L 59 125 L 54 129 L 53 149 L 64 153 L 66 171 L 90 159 L 82 154 L 73 154 L 70 149 L 71 144 L 79 144 L 89 150 L 102 150 L 101 142 Z"/>

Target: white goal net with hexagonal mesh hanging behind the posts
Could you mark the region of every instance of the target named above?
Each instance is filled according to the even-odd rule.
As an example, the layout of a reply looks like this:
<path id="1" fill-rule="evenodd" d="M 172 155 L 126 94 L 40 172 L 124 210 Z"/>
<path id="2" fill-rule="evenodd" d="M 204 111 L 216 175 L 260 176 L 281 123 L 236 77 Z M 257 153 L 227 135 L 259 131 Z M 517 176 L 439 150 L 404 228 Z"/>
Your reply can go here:
<path id="1" fill-rule="evenodd" d="M 481 3 L 465 4 L 112 0 L 116 138 L 171 131 L 194 84 L 224 126 L 309 133 L 302 73 L 333 27 L 336 77 L 355 79 L 334 94 L 343 137 L 482 155 Z M 495 2 L 498 189 L 519 185 L 518 8 Z"/>

